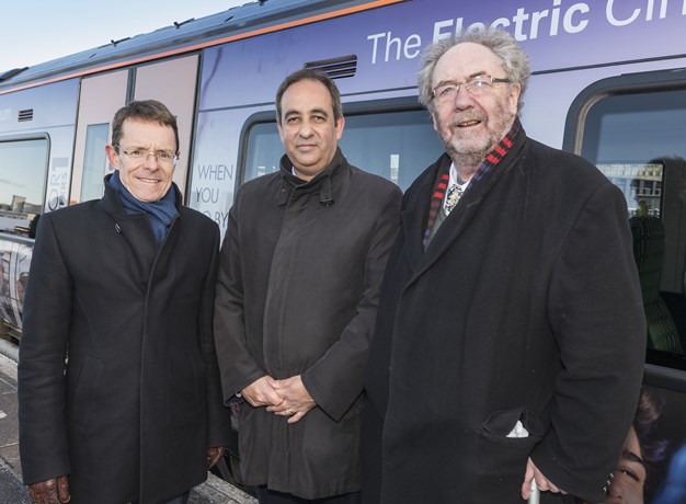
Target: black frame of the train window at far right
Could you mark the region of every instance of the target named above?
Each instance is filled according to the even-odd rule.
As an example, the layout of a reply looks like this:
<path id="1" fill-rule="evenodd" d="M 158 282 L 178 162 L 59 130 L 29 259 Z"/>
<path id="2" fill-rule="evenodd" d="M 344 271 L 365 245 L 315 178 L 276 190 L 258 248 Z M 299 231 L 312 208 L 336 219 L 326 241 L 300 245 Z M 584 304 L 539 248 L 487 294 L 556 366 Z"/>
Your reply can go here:
<path id="1" fill-rule="evenodd" d="M 564 125 L 562 149 L 582 156 L 584 135 L 594 105 L 616 96 L 631 96 L 645 93 L 686 92 L 686 75 L 675 70 L 660 70 L 622 75 L 602 79 L 582 90 L 572 102 Z M 593 162 L 593 161 L 592 161 Z M 664 164 L 663 164 L 664 165 Z M 664 172 L 662 175 L 664 184 Z M 662 186 L 665 191 L 665 186 Z M 660 218 L 664 216 L 664 198 L 660 196 Z M 686 262 L 686 256 L 682 259 Z M 684 289 L 686 295 L 686 288 Z M 682 335 L 682 341 L 684 337 Z M 645 377 L 647 385 L 654 385 L 686 392 L 686 348 L 685 354 L 647 348 Z"/>

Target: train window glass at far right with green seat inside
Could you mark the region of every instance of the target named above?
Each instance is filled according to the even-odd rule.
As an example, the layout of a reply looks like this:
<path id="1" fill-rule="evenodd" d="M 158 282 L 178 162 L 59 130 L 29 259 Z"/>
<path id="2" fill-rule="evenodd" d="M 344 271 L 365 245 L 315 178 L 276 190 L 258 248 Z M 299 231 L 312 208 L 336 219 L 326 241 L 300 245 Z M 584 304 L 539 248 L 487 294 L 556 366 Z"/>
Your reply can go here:
<path id="1" fill-rule="evenodd" d="M 586 114 L 582 156 L 625 194 L 651 356 L 686 348 L 686 91 L 610 95 Z"/>

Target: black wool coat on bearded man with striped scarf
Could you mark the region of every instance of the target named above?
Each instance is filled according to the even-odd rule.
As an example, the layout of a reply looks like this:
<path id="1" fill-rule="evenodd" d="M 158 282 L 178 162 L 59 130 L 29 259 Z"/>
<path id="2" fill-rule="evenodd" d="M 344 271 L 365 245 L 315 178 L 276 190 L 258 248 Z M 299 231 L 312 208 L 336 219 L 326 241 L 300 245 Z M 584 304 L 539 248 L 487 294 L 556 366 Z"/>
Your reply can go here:
<path id="1" fill-rule="evenodd" d="M 522 131 L 424 252 L 449 163 L 403 199 L 365 381 L 363 501 L 521 503 L 528 457 L 602 501 L 645 348 L 625 199 Z M 517 420 L 528 437 L 507 437 Z"/>

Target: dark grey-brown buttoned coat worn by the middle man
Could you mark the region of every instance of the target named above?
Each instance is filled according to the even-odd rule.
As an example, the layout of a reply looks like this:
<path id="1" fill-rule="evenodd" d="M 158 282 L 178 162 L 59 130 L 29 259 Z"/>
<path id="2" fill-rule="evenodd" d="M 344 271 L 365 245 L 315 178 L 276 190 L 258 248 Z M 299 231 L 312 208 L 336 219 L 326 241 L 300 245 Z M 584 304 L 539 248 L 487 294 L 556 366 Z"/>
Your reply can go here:
<path id="1" fill-rule="evenodd" d="M 307 184 L 284 157 L 281 173 L 240 188 L 215 309 L 225 400 L 265 375 L 301 374 L 318 404 L 295 424 L 240 404 L 248 484 L 305 499 L 359 490 L 362 380 L 400 199 L 340 151 Z"/>

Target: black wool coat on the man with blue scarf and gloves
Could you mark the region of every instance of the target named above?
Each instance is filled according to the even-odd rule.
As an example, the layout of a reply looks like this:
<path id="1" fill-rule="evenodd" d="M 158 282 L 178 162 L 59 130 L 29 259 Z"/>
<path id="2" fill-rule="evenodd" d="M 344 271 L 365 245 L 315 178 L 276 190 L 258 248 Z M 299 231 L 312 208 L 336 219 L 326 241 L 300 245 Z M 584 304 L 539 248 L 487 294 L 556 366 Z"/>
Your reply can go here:
<path id="1" fill-rule="evenodd" d="M 213 336 L 219 230 L 178 210 L 160 247 L 106 183 L 102 199 L 41 218 L 19 363 L 26 484 L 68 474 L 72 504 L 157 503 L 207 478 L 206 448 L 230 428 Z"/>

